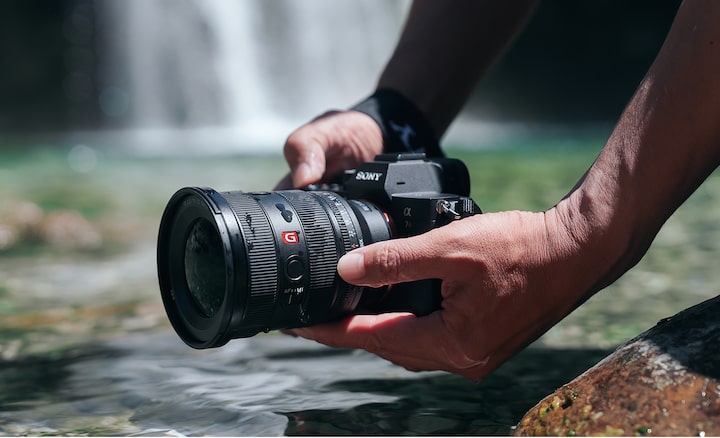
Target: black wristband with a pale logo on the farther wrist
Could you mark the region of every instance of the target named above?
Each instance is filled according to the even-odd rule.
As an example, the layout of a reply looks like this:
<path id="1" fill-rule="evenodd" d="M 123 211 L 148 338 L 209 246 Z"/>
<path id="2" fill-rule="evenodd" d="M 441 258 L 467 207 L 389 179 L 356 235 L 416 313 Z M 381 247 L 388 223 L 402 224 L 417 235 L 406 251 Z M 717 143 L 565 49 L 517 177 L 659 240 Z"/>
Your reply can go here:
<path id="1" fill-rule="evenodd" d="M 425 115 L 397 91 L 380 88 L 351 109 L 377 122 L 383 133 L 384 152 L 424 152 L 429 158 L 445 156 Z"/>

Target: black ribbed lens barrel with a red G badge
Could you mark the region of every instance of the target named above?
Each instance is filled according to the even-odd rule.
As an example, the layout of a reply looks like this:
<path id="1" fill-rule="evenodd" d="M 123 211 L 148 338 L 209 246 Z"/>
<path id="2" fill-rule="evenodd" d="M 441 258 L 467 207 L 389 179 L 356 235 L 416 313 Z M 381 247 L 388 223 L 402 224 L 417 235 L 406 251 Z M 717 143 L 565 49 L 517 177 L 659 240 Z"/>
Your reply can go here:
<path id="1" fill-rule="evenodd" d="M 338 260 L 390 238 L 387 214 L 335 192 L 186 187 L 160 224 L 163 304 L 194 348 L 337 319 L 372 307 L 386 292 L 347 284 Z"/>

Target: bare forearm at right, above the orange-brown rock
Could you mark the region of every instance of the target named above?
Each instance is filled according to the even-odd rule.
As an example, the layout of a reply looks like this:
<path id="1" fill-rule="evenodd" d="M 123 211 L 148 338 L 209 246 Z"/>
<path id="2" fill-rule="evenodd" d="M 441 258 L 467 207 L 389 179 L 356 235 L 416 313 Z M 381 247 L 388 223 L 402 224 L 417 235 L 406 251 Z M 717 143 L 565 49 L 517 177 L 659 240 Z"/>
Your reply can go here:
<path id="1" fill-rule="evenodd" d="M 601 275 L 591 292 L 637 263 L 720 163 L 718 22 L 720 3 L 683 4 L 605 148 L 563 201 L 575 239 L 593 248 L 585 269 Z"/>

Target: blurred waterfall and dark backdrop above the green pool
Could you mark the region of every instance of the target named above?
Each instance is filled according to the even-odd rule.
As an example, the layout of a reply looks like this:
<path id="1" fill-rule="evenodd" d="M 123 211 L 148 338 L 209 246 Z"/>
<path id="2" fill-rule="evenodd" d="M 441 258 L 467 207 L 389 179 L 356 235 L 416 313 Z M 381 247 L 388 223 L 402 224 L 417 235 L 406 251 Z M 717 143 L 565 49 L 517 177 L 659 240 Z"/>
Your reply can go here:
<path id="1" fill-rule="evenodd" d="M 542 2 L 479 87 L 468 115 L 611 123 L 678 3 Z M 144 147 L 160 148 L 160 141 L 170 150 L 196 139 L 188 132 L 203 131 L 212 135 L 202 138 L 203 148 L 223 144 L 237 152 L 262 142 L 277 152 L 298 123 L 372 90 L 408 6 L 406 0 L 3 2 L 0 131 L 121 131 L 131 140 L 148 135 Z"/>

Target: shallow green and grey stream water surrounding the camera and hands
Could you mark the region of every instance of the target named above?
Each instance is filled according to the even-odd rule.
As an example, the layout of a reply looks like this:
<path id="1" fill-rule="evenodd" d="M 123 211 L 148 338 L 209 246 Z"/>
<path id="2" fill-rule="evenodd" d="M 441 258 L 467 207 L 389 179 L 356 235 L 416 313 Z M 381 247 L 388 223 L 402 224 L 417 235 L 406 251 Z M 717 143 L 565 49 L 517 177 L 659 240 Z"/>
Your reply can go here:
<path id="1" fill-rule="evenodd" d="M 469 164 L 486 211 L 537 210 L 597 151 L 571 146 L 453 155 Z M 713 175 L 635 269 L 480 384 L 279 334 L 196 351 L 172 332 L 159 299 L 162 208 L 184 185 L 267 189 L 285 172 L 282 158 L 84 148 L 0 152 L 0 229 L 23 203 L 40 210 L 26 212 L 25 237 L 0 250 L 1 435 L 508 434 L 542 397 L 658 319 L 714 296 L 720 282 Z M 67 216 L 99 242 L 43 234 L 59 211 L 85 218 Z"/>

